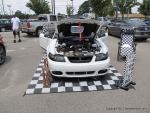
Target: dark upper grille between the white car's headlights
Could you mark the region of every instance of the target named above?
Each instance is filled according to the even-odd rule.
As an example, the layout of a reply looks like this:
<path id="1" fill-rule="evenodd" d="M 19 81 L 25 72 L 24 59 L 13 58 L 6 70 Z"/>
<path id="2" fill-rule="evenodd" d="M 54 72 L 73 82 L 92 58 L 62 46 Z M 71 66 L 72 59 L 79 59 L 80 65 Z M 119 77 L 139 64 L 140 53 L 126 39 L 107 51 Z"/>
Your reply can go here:
<path id="1" fill-rule="evenodd" d="M 91 62 L 92 56 L 68 57 L 71 63 L 88 63 Z"/>

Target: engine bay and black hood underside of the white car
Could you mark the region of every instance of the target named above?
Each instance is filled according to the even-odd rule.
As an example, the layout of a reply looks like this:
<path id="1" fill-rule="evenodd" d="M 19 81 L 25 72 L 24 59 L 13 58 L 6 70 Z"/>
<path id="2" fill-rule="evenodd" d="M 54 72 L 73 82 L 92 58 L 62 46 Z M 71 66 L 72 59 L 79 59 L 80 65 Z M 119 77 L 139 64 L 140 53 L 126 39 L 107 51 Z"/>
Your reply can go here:
<path id="1" fill-rule="evenodd" d="M 78 26 L 78 24 L 73 26 Z M 58 53 L 67 57 L 92 57 L 94 54 L 100 53 L 101 45 L 95 39 L 98 26 L 95 24 L 82 24 L 82 26 L 84 26 L 82 33 L 71 33 L 71 24 L 59 26 L 63 30 L 58 34 L 56 46 Z M 93 29 L 89 30 L 91 28 Z"/>

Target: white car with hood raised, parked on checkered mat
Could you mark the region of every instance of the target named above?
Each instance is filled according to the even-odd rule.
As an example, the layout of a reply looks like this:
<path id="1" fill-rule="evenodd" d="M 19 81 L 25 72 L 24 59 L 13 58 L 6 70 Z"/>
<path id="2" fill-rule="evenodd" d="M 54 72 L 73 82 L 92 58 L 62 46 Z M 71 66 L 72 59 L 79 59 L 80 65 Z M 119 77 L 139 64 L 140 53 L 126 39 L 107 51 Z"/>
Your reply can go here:
<path id="1" fill-rule="evenodd" d="M 57 77 L 95 77 L 105 75 L 110 66 L 108 48 L 96 20 L 66 19 L 39 37 L 46 49 L 50 73 Z"/>

